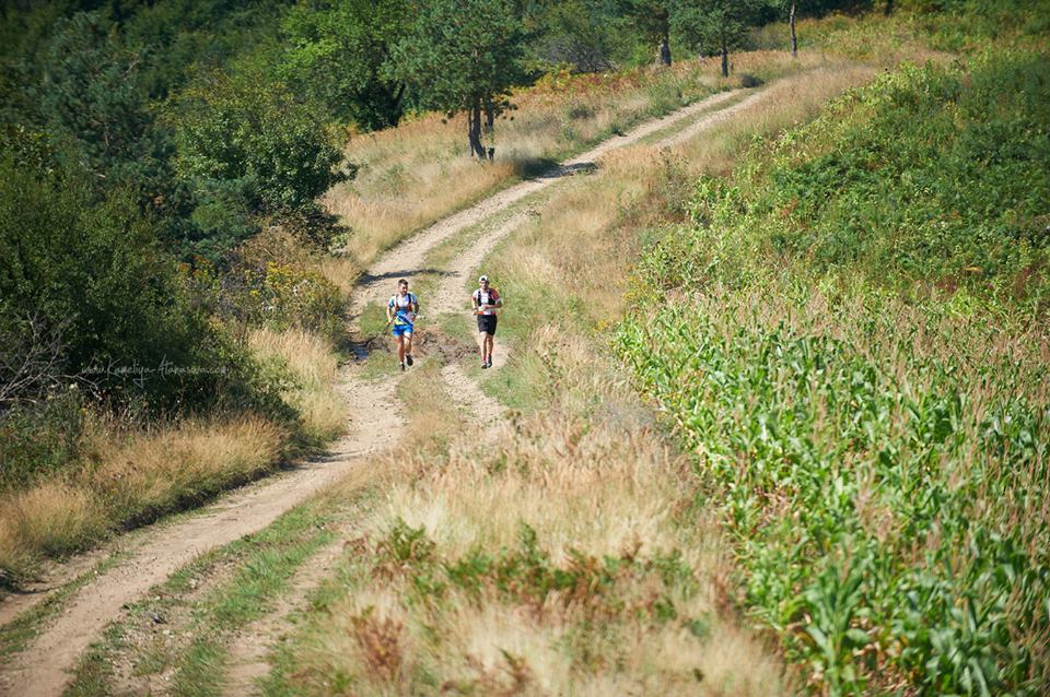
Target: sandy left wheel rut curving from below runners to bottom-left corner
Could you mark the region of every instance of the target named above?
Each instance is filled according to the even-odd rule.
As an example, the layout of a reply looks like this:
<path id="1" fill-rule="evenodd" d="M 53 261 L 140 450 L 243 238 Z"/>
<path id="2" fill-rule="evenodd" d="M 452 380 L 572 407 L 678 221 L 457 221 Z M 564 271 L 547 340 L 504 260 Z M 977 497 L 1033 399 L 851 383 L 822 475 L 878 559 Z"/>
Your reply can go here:
<path id="1" fill-rule="evenodd" d="M 394 385 L 369 385 L 352 375 L 342 385 L 350 433 L 332 450 L 284 476 L 240 489 L 201 515 L 158 530 L 130 557 L 79 590 L 36 641 L 0 674 L 0 694 L 58 695 L 68 671 L 121 605 L 139 598 L 199 554 L 270 524 L 278 516 L 346 475 L 366 466 L 368 458 L 387 450 L 399 424 L 389 409 Z"/>

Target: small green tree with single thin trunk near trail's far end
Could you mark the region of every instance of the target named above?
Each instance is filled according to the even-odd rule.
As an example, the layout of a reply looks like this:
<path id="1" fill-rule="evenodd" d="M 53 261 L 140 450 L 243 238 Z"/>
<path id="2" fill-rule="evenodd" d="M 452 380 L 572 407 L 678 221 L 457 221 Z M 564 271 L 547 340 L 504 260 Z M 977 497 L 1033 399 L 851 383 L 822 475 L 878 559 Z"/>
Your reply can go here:
<path id="1" fill-rule="evenodd" d="M 738 48 L 769 9 L 768 0 L 676 0 L 672 21 L 693 46 L 714 46 L 722 56 L 722 76 L 730 75 L 730 50 Z"/>

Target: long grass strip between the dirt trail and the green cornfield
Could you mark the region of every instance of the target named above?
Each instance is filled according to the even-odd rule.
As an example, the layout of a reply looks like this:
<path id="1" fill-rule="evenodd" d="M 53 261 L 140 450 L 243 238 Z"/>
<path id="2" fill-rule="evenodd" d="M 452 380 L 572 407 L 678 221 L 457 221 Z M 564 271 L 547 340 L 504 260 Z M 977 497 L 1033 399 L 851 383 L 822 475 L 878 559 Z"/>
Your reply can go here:
<path id="1" fill-rule="evenodd" d="M 480 374 L 513 406 L 478 424 L 433 370 L 406 393 L 412 445 L 280 649 L 268 694 L 780 695 L 792 682 L 732 606 L 716 507 L 609 361 L 643 231 L 757 134 L 870 80 L 848 63 L 667 152 L 611 153 L 486 262 L 510 298 Z M 498 350 L 503 350 L 499 349 Z M 469 410 L 469 407 L 468 407 Z"/>

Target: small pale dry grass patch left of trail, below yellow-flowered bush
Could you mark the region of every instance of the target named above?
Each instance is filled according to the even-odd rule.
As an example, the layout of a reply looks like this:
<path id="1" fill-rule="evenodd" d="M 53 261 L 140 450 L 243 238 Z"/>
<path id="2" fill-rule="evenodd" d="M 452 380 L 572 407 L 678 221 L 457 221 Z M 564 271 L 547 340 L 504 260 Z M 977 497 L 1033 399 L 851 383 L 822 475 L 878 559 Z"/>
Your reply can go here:
<path id="1" fill-rule="evenodd" d="M 339 364 L 331 344 L 302 329 L 255 329 L 248 346 L 264 361 L 278 361 L 292 376 L 283 394 L 300 412 L 307 440 L 324 442 L 346 430 L 347 405 L 336 391 Z"/>

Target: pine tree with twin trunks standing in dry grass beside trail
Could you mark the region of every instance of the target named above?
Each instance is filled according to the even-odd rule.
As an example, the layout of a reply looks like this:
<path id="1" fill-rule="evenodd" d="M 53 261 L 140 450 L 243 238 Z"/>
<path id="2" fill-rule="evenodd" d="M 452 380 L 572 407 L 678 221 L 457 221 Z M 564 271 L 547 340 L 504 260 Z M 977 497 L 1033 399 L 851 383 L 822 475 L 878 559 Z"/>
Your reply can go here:
<path id="1" fill-rule="evenodd" d="M 466 111 L 470 153 L 491 158 L 482 123 L 491 133 L 511 87 L 524 80 L 524 37 L 509 0 L 424 0 L 412 31 L 392 51 L 390 74 L 423 108 Z"/>

